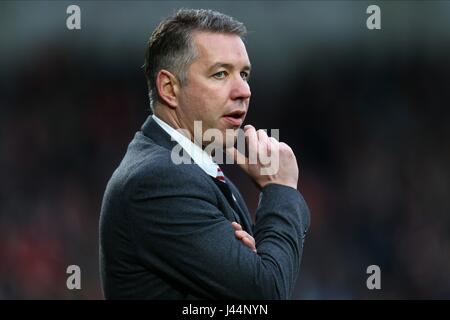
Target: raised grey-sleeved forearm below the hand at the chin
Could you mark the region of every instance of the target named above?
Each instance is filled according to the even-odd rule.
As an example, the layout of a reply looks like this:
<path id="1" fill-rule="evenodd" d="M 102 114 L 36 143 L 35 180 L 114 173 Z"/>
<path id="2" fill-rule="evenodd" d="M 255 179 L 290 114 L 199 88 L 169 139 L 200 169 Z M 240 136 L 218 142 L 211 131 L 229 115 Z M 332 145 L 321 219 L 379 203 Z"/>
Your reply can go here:
<path id="1" fill-rule="evenodd" d="M 291 297 L 298 275 L 303 237 L 309 226 L 309 210 L 300 193 L 270 184 L 261 191 L 256 212 L 255 240 L 261 263 L 273 277 L 272 298 Z"/>

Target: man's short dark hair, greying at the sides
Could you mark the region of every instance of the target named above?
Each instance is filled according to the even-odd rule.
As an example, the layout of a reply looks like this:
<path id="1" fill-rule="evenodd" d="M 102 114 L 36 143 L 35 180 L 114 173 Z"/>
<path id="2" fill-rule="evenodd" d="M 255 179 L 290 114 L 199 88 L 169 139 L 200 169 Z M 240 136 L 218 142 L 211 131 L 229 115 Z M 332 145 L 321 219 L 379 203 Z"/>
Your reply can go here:
<path id="1" fill-rule="evenodd" d="M 186 84 L 187 68 L 197 57 L 192 42 L 195 31 L 235 34 L 241 38 L 247 34 L 242 22 L 213 10 L 180 9 L 161 21 L 150 36 L 143 66 L 152 111 L 160 99 L 156 88 L 156 76 L 160 70 L 170 71 L 178 77 L 181 85 Z"/>

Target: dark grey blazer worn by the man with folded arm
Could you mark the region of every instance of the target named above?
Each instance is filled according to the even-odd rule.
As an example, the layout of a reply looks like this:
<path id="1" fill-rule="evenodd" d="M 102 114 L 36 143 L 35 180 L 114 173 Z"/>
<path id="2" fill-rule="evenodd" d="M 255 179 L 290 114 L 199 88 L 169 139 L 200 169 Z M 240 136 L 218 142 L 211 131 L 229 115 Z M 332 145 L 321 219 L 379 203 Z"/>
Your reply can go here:
<path id="1" fill-rule="evenodd" d="M 100 214 L 105 298 L 289 299 L 309 227 L 303 197 L 269 184 L 253 225 L 232 182 L 175 165 L 175 145 L 148 117 L 108 182 Z M 257 253 L 236 239 L 232 221 L 254 236 Z"/>

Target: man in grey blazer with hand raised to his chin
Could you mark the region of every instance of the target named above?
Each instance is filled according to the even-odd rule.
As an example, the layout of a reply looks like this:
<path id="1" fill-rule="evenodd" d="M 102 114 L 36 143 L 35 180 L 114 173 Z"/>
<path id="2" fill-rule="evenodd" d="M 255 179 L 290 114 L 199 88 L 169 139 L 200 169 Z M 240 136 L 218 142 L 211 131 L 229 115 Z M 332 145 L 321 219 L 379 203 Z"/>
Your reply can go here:
<path id="1" fill-rule="evenodd" d="M 153 115 L 128 146 L 102 204 L 106 298 L 291 297 L 309 226 L 292 150 L 252 126 L 245 136 L 256 163 L 228 149 L 236 161 L 247 160 L 240 166 L 261 190 L 252 225 L 239 191 L 194 132 L 201 121 L 203 135 L 225 136 L 244 121 L 251 95 L 245 32 L 229 16 L 186 9 L 153 32 L 144 65 Z M 176 164 L 176 146 L 193 163 Z M 262 174 L 259 156 L 275 150 L 279 169 Z"/>

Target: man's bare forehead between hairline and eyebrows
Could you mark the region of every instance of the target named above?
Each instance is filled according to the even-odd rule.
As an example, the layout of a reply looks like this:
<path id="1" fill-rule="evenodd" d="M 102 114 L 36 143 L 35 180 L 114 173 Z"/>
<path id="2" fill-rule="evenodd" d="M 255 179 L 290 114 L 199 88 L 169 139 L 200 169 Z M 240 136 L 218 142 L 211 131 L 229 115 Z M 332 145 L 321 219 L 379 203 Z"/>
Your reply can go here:
<path id="1" fill-rule="evenodd" d="M 196 62 L 201 65 L 211 66 L 217 62 L 236 67 L 250 65 L 244 42 L 237 35 L 195 32 L 192 39 L 198 53 Z"/>

